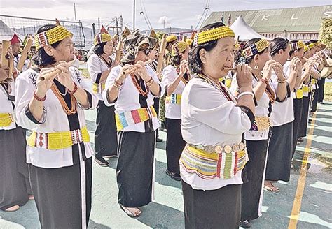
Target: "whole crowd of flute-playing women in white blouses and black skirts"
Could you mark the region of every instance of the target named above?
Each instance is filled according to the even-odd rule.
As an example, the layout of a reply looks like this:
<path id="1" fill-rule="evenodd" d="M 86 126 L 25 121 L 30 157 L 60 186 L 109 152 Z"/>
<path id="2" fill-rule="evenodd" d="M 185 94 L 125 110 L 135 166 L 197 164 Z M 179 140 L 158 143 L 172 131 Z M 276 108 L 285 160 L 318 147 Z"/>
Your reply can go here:
<path id="1" fill-rule="evenodd" d="M 117 38 L 101 31 L 88 84 L 72 66 L 71 38 L 60 24 L 45 25 L 33 66 L 14 74 L 0 68 L 2 210 L 30 199 L 42 228 L 86 228 L 95 154 L 102 166 L 118 158 L 120 209 L 140 216 L 153 201 L 158 118 L 167 129 L 165 172 L 182 184 L 185 228 L 250 227 L 261 216 L 263 189 L 278 192 L 274 182 L 289 181 L 296 143 L 324 88 L 324 44 L 254 38 L 240 45 L 216 22 L 193 39 L 168 36 L 158 73 L 156 36 L 122 34 L 118 59 Z M 18 43 L 14 36 L 8 58 L 20 59 Z M 94 108 L 95 150 L 84 112 Z"/>

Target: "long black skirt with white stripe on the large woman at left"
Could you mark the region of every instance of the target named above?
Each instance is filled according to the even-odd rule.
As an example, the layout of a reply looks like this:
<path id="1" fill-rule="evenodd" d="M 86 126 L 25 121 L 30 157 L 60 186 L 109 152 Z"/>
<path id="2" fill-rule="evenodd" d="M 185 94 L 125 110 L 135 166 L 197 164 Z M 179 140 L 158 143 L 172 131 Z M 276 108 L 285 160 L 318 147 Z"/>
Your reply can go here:
<path id="1" fill-rule="evenodd" d="M 87 228 L 91 212 L 92 160 L 63 168 L 29 165 L 41 228 Z"/>

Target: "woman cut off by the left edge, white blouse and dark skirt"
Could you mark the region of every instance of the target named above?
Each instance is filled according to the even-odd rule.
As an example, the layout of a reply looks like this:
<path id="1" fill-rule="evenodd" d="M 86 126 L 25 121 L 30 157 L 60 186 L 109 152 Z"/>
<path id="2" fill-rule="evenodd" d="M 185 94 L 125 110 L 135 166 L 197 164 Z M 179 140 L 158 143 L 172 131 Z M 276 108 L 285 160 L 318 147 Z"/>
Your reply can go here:
<path id="1" fill-rule="evenodd" d="M 0 209 L 13 212 L 25 205 L 32 191 L 25 160 L 25 130 L 15 124 L 15 82 L 8 80 L 8 75 L 9 68 L 0 67 Z"/>

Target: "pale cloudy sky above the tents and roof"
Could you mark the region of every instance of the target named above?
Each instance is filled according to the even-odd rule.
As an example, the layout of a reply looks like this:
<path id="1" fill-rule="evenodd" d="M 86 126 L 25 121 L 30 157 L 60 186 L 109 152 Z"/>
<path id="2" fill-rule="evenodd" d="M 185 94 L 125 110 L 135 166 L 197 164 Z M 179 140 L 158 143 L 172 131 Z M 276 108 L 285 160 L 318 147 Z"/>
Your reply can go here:
<path id="1" fill-rule="evenodd" d="M 112 17 L 123 15 L 124 22 L 132 26 L 132 11 L 134 0 L 46 0 L 46 1 L 15 1 L 0 0 L 0 14 L 22 17 L 38 17 L 46 19 L 74 20 L 74 6 L 76 3 L 77 20 L 81 20 L 85 27 L 91 23 L 97 24 L 100 17 L 102 24 L 109 24 Z M 153 28 L 181 27 L 190 29 L 196 27 L 205 6 L 209 2 L 209 13 L 222 10 L 253 10 L 270 8 L 291 8 L 301 6 L 331 5 L 332 0 L 136 0 L 136 27 L 148 29 L 144 20 L 144 11 Z M 203 15 L 204 16 L 204 15 Z M 203 17 L 204 19 L 204 17 Z"/>

